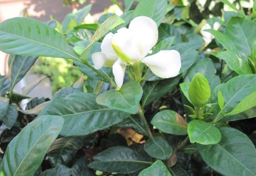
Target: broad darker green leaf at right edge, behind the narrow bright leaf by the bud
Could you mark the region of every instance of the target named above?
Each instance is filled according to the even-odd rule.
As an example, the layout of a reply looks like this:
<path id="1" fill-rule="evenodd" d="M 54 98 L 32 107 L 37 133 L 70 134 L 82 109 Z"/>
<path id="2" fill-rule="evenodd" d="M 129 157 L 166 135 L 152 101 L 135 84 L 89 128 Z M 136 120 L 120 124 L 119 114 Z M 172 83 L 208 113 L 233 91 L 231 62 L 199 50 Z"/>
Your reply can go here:
<path id="1" fill-rule="evenodd" d="M 243 100 L 243 98 L 249 96 L 251 93 L 256 92 L 255 82 L 256 82 L 256 75 L 239 75 L 230 79 L 228 82 L 222 85 L 222 87 L 220 88 L 220 91 L 226 103 L 222 111 L 224 113 L 229 113 L 237 106 L 237 104 L 240 101 Z M 226 121 L 225 118 L 223 118 L 222 116 L 222 111 L 220 110 L 220 108 L 218 107 L 216 108 L 212 110 L 212 113 L 214 113 L 214 115 L 218 117 L 217 120 L 218 121 L 221 120 L 221 122 Z M 236 119 L 236 116 L 233 116 L 232 119 L 229 119 L 229 120 L 235 120 L 235 119 Z"/>

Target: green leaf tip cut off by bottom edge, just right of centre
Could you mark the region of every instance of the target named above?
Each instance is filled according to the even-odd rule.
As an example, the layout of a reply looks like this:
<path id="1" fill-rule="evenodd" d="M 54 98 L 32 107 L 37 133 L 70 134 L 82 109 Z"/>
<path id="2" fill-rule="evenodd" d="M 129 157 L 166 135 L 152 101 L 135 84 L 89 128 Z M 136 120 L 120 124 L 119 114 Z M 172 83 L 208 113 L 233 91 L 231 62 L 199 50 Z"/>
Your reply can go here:
<path id="1" fill-rule="evenodd" d="M 150 167 L 142 170 L 139 176 L 148 175 L 161 175 L 161 176 L 172 176 L 167 169 L 166 165 L 161 160 L 155 161 Z"/>

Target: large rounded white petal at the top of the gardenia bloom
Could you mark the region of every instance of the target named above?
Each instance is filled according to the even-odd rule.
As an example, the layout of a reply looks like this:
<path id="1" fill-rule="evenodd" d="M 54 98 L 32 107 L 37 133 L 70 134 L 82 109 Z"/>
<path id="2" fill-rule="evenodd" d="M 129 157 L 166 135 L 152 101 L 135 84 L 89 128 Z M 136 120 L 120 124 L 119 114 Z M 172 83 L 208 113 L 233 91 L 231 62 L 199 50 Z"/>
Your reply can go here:
<path id="1" fill-rule="evenodd" d="M 158 26 L 151 18 L 138 16 L 131 20 L 129 30 L 141 50 L 142 58 L 145 57 L 158 41 Z"/>

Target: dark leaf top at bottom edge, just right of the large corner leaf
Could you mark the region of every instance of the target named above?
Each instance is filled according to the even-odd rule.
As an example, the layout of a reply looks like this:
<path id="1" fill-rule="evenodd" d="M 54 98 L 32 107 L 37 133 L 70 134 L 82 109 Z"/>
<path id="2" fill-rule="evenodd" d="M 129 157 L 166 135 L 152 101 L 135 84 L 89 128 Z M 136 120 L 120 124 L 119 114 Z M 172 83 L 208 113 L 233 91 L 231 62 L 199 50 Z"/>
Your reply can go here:
<path id="1" fill-rule="evenodd" d="M 40 176 L 69 176 L 72 171 L 67 166 L 58 165 L 56 168 L 47 169 Z"/>

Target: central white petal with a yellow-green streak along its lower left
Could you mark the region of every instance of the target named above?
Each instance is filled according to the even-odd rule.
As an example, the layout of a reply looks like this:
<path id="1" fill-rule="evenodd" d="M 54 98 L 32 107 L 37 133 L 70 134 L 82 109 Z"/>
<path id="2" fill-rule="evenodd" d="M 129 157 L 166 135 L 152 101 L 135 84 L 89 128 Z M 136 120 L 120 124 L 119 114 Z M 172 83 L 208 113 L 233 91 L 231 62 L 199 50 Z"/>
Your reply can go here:
<path id="1" fill-rule="evenodd" d="M 142 53 L 127 28 L 121 28 L 114 34 L 112 45 L 118 57 L 125 62 L 133 63 L 142 59 Z"/>

